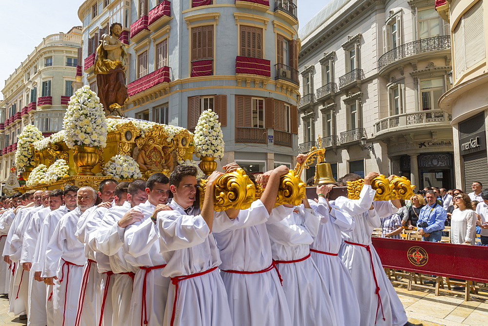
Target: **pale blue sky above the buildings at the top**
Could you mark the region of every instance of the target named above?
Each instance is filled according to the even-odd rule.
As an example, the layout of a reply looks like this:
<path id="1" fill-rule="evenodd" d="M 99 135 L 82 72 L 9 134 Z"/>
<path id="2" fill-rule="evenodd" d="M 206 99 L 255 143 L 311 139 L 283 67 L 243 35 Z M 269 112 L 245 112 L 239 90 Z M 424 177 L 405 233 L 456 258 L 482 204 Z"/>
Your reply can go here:
<path id="1" fill-rule="evenodd" d="M 300 26 L 310 20 L 330 0 L 298 0 Z M 0 10 L 0 89 L 20 62 L 34 51 L 42 38 L 66 33 L 81 25 L 78 8 L 82 0 L 1 1 Z M 0 94 L 0 98 L 3 95 Z"/>

